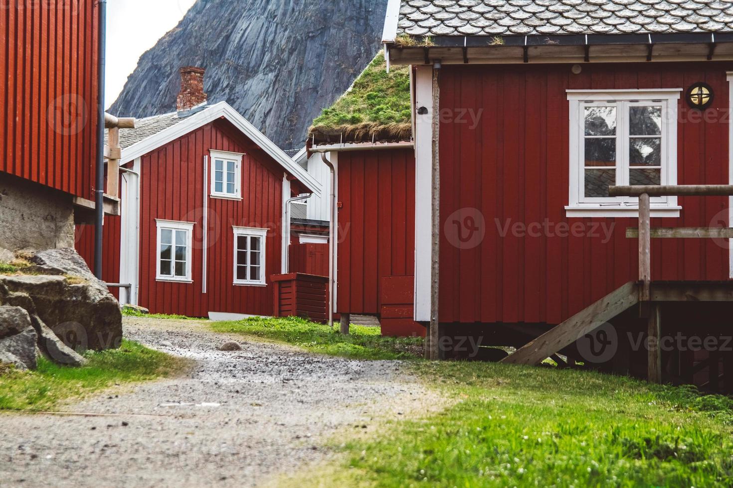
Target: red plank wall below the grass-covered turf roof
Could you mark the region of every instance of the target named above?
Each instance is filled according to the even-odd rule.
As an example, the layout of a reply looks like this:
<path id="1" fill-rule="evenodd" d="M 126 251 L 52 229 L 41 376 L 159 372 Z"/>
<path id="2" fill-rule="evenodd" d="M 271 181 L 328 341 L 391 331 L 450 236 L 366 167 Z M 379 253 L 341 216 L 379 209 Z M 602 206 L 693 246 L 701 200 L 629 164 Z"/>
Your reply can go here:
<path id="1" fill-rule="evenodd" d="M 380 312 L 380 279 L 415 267 L 415 156 L 411 149 L 339 154 L 336 311 Z"/>

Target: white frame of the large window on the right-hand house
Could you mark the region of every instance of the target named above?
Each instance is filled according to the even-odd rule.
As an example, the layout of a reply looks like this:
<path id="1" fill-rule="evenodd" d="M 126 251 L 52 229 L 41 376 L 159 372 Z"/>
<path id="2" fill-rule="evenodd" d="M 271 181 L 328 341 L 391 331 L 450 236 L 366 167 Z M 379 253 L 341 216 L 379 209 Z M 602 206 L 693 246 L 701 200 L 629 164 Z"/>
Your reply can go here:
<path id="1" fill-rule="evenodd" d="M 662 107 L 661 184 L 677 184 L 677 100 L 682 89 L 567 90 L 570 102 L 570 193 L 567 217 L 638 217 L 636 197 L 585 197 L 585 118 L 588 106 L 616 106 L 616 184 L 628 184 L 628 108 Z M 652 217 L 679 217 L 677 197 L 651 199 Z"/>

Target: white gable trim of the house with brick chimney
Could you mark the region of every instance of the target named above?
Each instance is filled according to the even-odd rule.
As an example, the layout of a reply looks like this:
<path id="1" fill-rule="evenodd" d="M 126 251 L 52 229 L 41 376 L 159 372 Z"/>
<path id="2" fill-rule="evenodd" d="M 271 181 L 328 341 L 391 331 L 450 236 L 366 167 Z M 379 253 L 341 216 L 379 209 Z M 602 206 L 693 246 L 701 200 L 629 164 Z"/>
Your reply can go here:
<path id="1" fill-rule="evenodd" d="M 316 195 L 320 195 L 322 192 L 321 184 L 310 176 L 306 171 L 298 166 L 294 160 L 290 159 L 278 146 L 268 139 L 262 132 L 259 132 L 252 124 L 250 124 L 237 110 L 232 108 L 226 102 L 218 102 L 216 105 L 211 105 L 209 108 L 201 110 L 178 124 L 175 124 L 167 129 L 161 130 L 150 138 L 143 139 L 132 146 L 122 149 L 122 157 L 120 164 L 130 162 L 137 157 L 141 157 L 144 154 L 154 151 L 161 146 L 166 145 L 172 140 L 176 140 L 183 135 L 188 134 L 195 129 L 198 129 L 202 125 L 208 124 L 211 121 L 215 121 L 224 117 L 224 119 L 231 122 L 237 129 L 240 130 L 244 135 L 250 138 L 257 146 L 261 147 L 270 157 L 275 159 L 284 170 L 295 176 L 298 181 L 310 191 Z"/>

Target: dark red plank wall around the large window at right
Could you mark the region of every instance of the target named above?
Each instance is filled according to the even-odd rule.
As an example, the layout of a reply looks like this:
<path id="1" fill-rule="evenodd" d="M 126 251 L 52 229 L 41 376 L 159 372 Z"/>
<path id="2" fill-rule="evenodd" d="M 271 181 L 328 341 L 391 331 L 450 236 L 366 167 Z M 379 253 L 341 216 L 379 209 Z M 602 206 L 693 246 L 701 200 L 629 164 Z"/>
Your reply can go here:
<path id="1" fill-rule="evenodd" d="M 474 249 L 441 238 L 441 322 L 560 323 L 625 282 L 638 279 L 636 219 L 565 217 L 568 203 L 566 89 L 715 91 L 712 121 L 693 122 L 679 102 L 678 184 L 728 182 L 728 83 L 732 63 L 450 66 L 441 70 L 441 110 L 483 109 L 479 124 L 441 123 L 441 228 L 458 209 L 480 209 L 486 236 Z M 681 97 L 683 98 L 683 97 Z M 447 113 L 447 112 L 446 112 Z M 340 168 L 339 168 L 340 170 Z M 679 198 L 679 219 L 652 226 L 707 226 L 726 198 Z M 727 218 L 727 217 L 725 217 Z M 499 236 L 498 224 L 611 226 L 600 236 Z M 718 224 L 719 225 L 719 224 Z M 654 239 L 652 279 L 727 279 L 728 250 L 710 240 Z"/>

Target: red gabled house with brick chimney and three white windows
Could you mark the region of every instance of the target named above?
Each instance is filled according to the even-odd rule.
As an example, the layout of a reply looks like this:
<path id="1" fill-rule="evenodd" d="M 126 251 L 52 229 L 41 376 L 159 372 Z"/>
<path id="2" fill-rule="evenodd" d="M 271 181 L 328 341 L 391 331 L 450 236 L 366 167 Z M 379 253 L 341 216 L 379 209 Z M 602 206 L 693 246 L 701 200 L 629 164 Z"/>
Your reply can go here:
<path id="1" fill-rule="evenodd" d="M 284 202 L 320 184 L 226 102 L 207 105 L 203 70 L 181 73 L 177 112 L 120 132 L 122 215 L 105 225 L 104 279 L 151 312 L 273 315 Z"/>

